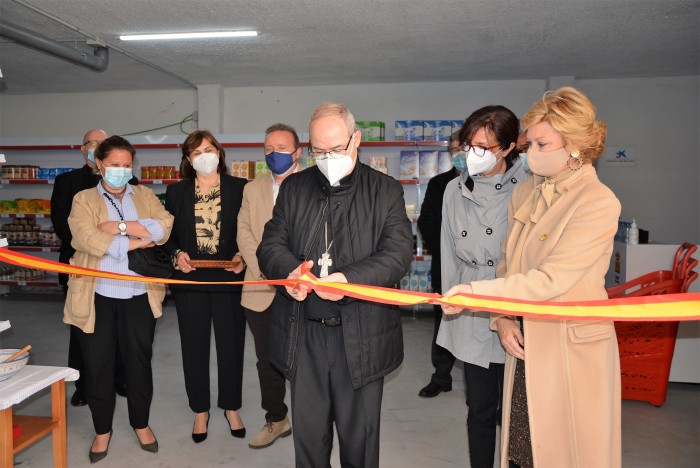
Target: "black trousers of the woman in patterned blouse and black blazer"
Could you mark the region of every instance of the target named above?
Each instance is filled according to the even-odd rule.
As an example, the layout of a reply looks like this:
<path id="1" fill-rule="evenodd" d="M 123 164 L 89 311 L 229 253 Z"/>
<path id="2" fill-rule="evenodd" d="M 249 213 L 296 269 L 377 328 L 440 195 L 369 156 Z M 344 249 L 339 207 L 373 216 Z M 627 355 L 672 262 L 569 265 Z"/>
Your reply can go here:
<path id="1" fill-rule="evenodd" d="M 209 348 L 213 323 L 219 381 L 217 406 L 238 410 L 241 407 L 245 345 L 241 293 L 178 290 L 174 296 L 190 408 L 195 413 L 211 408 Z"/>

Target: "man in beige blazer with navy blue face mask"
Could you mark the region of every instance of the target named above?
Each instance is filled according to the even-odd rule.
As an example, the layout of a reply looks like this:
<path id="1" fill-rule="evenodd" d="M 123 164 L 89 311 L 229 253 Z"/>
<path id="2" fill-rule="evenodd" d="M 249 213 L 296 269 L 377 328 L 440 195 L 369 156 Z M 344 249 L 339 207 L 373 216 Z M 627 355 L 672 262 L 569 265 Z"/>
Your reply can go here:
<path id="1" fill-rule="evenodd" d="M 255 251 L 262 240 L 265 224 L 272 218 L 272 208 L 277 201 L 280 185 L 297 170 L 301 155 L 299 136 L 294 128 L 282 123 L 265 130 L 265 161 L 271 175 L 256 178 L 243 189 L 243 202 L 238 212 L 238 249 L 246 262 L 246 281 L 262 277 Z M 270 306 L 275 297 L 275 288 L 265 285 L 245 285 L 241 305 L 255 341 L 258 358 L 258 379 L 262 408 L 265 410 L 265 426 L 248 443 L 250 448 L 269 447 L 278 438 L 292 433 L 287 418 L 288 408 L 284 403 L 286 384 L 280 371 L 272 367 L 269 358 Z"/>

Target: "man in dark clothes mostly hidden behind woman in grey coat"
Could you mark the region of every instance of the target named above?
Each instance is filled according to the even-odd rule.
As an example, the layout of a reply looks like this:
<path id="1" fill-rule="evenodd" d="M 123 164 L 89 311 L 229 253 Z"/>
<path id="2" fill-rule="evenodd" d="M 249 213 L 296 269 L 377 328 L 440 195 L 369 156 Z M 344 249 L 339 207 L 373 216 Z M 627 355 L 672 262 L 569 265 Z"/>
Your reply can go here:
<path id="1" fill-rule="evenodd" d="M 432 258 L 430 260 L 430 272 L 433 285 L 433 291 L 438 294 L 442 293 L 442 279 L 440 274 L 440 227 L 442 226 L 442 198 L 445 195 L 445 187 L 448 182 L 462 173 L 466 167 L 466 160 L 458 156 L 461 151 L 459 144 L 459 132 L 454 132 L 450 135 L 448 142 L 448 151 L 450 159 L 452 159 L 453 167 L 447 172 L 438 174 L 428 182 L 428 188 L 425 191 L 425 198 L 420 207 L 420 216 L 418 217 L 418 230 L 425 245 L 431 251 Z M 435 328 L 433 331 L 433 340 L 430 347 L 430 360 L 433 363 L 435 372 L 430 377 L 428 385 L 423 387 L 418 396 L 423 398 L 432 398 L 438 396 L 441 392 L 449 392 L 452 390 L 452 366 L 455 363 L 455 357 L 451 352 L 435 342 L 437 332 L 440 329 L 442 321 L 442 307 L 439 305 L 433 306 L 435 315 Z"/>

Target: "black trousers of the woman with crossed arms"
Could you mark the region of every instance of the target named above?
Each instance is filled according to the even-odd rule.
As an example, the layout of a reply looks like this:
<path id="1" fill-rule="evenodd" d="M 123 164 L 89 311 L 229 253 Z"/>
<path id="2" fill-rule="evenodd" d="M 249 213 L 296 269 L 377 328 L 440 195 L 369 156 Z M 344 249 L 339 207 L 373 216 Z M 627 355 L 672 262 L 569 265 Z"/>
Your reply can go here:
<path id="1" fill-rule="evenodd" d="M 83 386 L 95 433 L 112 430 L 117 341 L 125 364 L 129 423 L 135 429 L 147 427 L 153 399 L 151 358 L 156 330 L 148 295 L 112 299 L 95 294 L 95 314 L 94 333 L 78 330 L 85 365 Z"/>

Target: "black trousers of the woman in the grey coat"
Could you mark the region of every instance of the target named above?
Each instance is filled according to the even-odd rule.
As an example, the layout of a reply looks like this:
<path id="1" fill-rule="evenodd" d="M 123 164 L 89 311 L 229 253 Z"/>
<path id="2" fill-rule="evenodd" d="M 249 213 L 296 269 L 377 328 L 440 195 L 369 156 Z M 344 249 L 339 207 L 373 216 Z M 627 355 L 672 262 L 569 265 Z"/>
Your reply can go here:
<path id="1" fill-rule="evenodd" d="M 467 387 L 467 435 L 472 468 L 493 467 L 496 425 L 500 422 L 504 365 L 490 363 L 485 369 L 464 363 Z"/>

